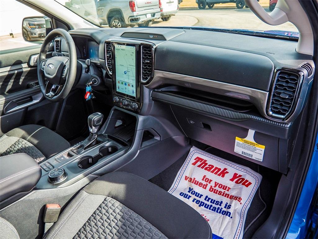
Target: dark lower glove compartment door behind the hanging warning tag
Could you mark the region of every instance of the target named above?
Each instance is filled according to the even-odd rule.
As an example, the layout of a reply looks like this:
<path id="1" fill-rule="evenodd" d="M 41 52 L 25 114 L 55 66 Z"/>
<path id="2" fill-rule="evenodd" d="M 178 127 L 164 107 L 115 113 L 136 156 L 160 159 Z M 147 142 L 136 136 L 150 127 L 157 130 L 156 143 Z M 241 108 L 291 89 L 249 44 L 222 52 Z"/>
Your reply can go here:
<path id="1" fill-rule="evenodd" d="M 255 130 L 254 141 L 265 147 L 262 161 L 255 160 L 234 152 L 236 137 L 245 139 L 249 128 L 240 127 L 175 105 L 171 105 L 171 109 L 189 138 L 239 156 L 242 160 L 249 160 L 279 171 L 279 138 Z M 248 151 L 246 152 L 248 153 Z"/>

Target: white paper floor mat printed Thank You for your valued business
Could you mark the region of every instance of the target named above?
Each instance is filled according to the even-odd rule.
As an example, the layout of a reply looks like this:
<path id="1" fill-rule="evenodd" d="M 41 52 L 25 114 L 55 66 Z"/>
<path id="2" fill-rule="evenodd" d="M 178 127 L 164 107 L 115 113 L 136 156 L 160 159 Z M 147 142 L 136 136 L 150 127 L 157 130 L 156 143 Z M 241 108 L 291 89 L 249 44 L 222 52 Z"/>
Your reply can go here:
<path id="1" fill-rule="evenodd" d="M 261 179 L 250 168 L 192 147 L 168 192 L 204 217 L 213 238 L 240 239 Z"/>

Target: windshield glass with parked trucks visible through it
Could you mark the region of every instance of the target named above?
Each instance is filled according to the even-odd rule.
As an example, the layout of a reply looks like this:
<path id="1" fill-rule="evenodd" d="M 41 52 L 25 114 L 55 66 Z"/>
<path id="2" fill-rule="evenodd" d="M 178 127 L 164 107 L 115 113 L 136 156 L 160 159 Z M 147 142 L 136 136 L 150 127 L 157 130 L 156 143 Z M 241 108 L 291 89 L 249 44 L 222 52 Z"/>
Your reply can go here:
<path id="1" fill-rule="evenodd" d="M 272 26 L 261 21 L 244 0 L 55 0 L 101 27 L 192 27 L 239 30 L 298 38 L 290 22 Z M 259 0 L 273 11 L 277 0 Z"/>

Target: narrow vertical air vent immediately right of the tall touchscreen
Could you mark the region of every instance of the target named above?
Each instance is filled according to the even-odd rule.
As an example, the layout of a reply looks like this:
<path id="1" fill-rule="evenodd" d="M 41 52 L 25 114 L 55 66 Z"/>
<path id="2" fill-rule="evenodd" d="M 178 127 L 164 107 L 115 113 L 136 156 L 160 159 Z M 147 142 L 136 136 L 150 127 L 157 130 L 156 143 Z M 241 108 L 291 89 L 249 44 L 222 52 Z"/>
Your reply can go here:
<path id="1" fill-rule="evenodd" d="M 154 61 L 154 50 L 151 46 L 142 46 L 142 83 L 149 82 L 153 76 L 154 69 L 153 69 L 153 61 Z"/>

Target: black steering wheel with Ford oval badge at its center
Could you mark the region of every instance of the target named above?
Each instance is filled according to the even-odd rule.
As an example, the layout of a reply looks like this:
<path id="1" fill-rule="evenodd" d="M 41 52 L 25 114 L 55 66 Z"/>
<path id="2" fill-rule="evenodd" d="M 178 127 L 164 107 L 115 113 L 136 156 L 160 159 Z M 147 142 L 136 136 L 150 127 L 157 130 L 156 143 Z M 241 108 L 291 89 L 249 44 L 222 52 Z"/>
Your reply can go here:
<path id="1" fill-rule="evenodd" d="M 46 59 L 49 46 L 57 36 L 62 36 L 65 39 L 69 57 L 53 56 Z M 76 65 L 76 48 L 71 35 L 59 28 L 47 34 L 38 56 L 38 82 L 46 99 L 58 102 L 66 98 L 75 81 Z"/>

